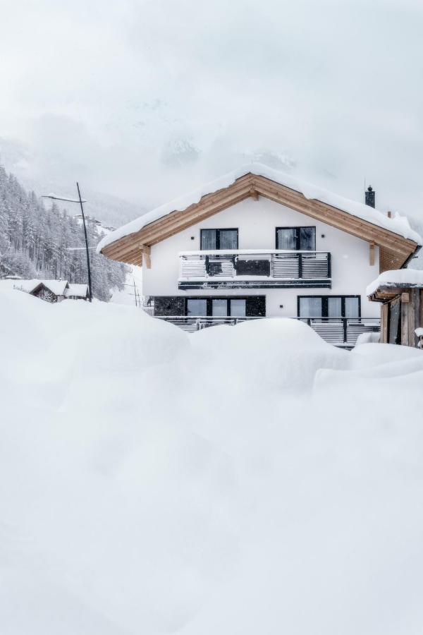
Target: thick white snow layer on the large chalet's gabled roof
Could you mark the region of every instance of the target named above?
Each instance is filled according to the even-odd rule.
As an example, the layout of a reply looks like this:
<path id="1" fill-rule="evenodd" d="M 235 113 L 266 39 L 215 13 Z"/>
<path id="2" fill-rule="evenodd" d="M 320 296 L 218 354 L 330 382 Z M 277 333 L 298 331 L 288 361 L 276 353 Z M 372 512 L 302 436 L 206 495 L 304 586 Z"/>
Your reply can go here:
<path id="1" fill-rule="evenodd" d="M 107 245 L 118 241 L 119 238 L 134 234 L 136 231 L 140 231 L 140 229 L 142 229 L 149 223 L 152 223 L 159 218 L 170 214 L 171 212 L 182 212 L 183 210 L 186 210 L 187 207 L 190 207 L 190 205 L 199 202 L 202 196 L 206 194 L 212 194 L 218 190 L 231 186 L 232 183 L 236 181 L 236 179 L 240 179 L 240 177 L 245 176 L 245 174 L 264 176 L 266 179 L 270 179 L 271 181 L 280 183 L 280 185 L 286 186 L 291 190 L 302 193 L 305 198 L 309 200 L 316 199 L 326 203 L 327 205 L 331 205 L 332 207 L 337 207 L 338 210 L 343 210 L 343 212 L 348 212 L 348 214 L 352 214 L 353 216 L 361 218 L 364 221 L 367 221 L 379 227 L 383 227 L 384 229 L 388 229 L 388 231 L 393 231 L 394 234 L 398 234 L 399 236 L 403 236 L 404 238 L 410 238 L 412 241 L 417 242 L 419 245 L 422 244 L 421 236 L 419 236 L 416 231 L 411 229 L 407 218 L 404 216 L 400 216 L 400 214 L 395 214 L 393 218 L 388 218 L 385 214 L 379 212 L 379 210 L 375 210 L 373 207 L 369 207 L 369 205 L 364 205 L 364 203 L 349 200 L 348 198 L 343 198 L 342 196 L 338 196 L 337 194 L 314 186 L 311 183 L 307 183 L 306 181 L 297 179 L 295 176 L 290 176 L 289 174 L 285 174 L 284 172 L 267 167 L 264 164 L 252 163 L 243 165 L 237 170 L 234 170 L 232 172 L 229 172 L 228 174 L 225 174 L 224 176 L 219 177 L 219 179 L 209 181 L 209 183 L 205 183 L 200 188 L 197 188 L 196 190 L 193 190 L 190 193 L 181 196 L 180 198 L 171 200 L 164 205 L 160 205 L 151 212 L 147 212 L 147 214 L 143 214 L 139 218 L 119 227 L 115 231 L 112 231 L 109 236 L 104 236 L 104 238 L 102 238 L 102 240 L 99 242 L 99 244 L 97 245 L 97 253 L 100 253 L 102 248 L 106 247 Z"/>

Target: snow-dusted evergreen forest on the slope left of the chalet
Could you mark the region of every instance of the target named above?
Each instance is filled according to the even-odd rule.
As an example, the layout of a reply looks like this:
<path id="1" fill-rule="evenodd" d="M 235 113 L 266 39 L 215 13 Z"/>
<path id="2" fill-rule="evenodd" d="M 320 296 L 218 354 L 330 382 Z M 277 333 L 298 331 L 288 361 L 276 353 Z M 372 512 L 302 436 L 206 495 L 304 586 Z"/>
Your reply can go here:
<path id="1" fill-rule="evenodd" d="M 88 243 L 95 247 L 101 234 L 87 224 Z M 123 289 L 126 267 L 90 249 L 92 293 L 108 301 L 112 289 Z M 82 225 L 56 204 L 48 209 L 34 192 L 27 193 L 13 174 L 0 166 L 0 274 L 23 278 L 61 278 L 87 282 L 87 259 Z"/>

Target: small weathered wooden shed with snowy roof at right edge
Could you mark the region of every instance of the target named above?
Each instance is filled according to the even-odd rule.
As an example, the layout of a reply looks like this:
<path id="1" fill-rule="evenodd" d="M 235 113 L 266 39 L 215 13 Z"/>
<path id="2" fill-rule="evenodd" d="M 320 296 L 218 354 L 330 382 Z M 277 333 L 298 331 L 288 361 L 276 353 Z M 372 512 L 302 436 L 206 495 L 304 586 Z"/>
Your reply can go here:
<path id="1" fill-rule="evenodd" d="M 367 297 L 382 303 L 382 343 L 423 347 L 423 270 L 385 271 L 369 284 Z"/>

